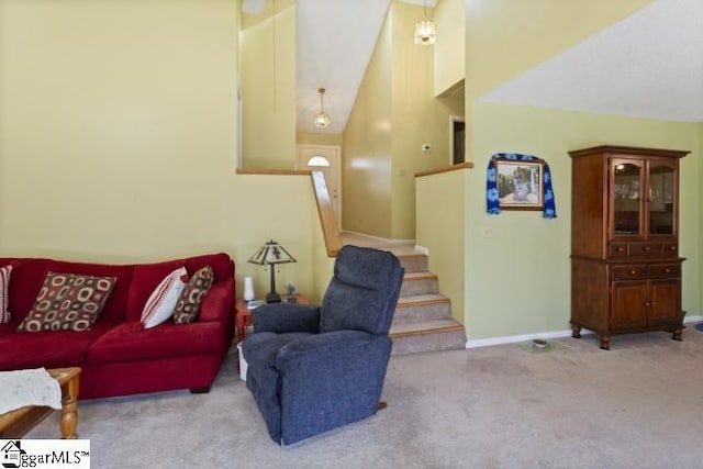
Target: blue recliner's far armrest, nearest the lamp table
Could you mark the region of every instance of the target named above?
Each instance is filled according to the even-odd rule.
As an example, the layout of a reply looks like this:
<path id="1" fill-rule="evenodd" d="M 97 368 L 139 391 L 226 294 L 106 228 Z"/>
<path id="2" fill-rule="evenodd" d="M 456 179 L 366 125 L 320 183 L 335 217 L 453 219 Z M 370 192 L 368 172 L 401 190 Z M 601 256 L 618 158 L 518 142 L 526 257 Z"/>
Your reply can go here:
<path id="1" fill-rule="evenodd" d="M 320 306 L 313 304 L 265 304 L 252 312 L 254 333 L 320 331 Z"/>

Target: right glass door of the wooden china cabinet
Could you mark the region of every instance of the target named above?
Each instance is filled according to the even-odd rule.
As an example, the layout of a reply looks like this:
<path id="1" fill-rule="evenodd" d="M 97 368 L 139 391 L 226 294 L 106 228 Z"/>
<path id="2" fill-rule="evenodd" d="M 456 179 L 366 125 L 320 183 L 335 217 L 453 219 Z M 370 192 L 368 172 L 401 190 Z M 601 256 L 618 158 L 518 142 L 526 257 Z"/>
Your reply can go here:
<path id="1" fill-rule="evenodd" d="M 650 235 L 673 235 L 674 179 L 674 168 L 670 161 L 650 161 L 647 209 Z"/>

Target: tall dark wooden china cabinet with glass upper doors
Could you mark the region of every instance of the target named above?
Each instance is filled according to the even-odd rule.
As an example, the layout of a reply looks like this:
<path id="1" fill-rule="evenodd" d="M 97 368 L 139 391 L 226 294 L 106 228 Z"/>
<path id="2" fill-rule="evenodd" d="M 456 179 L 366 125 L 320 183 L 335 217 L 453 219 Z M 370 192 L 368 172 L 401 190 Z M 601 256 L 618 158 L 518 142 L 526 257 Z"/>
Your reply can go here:
<path id="1" fill-rule="evenodd" d="M 668 331 L 681 340 L 679 159 L 689 152 L 598 146 L 571 155 L 571 330 Z"/>

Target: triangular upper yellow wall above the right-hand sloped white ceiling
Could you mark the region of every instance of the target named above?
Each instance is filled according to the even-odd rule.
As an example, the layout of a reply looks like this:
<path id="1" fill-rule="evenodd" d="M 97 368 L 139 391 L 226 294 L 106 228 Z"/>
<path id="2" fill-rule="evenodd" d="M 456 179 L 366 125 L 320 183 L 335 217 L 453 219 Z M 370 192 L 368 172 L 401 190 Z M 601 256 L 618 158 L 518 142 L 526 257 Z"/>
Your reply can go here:
<path id="1" fill-rule="evenodd" d="M 467 159 L 476 99 L 652 1 L 466 0 Z"/>

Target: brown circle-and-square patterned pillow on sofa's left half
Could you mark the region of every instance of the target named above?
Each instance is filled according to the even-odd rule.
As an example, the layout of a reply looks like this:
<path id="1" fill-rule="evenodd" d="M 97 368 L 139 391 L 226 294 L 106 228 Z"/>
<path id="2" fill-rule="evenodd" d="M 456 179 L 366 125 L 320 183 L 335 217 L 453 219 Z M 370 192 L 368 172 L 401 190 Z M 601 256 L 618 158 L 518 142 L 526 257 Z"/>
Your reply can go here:
<path id="1" fill-rule="evenodd" d="M 90 331 L 116 281 L 116 277 L 48 272 L 18 331 Z"/>

